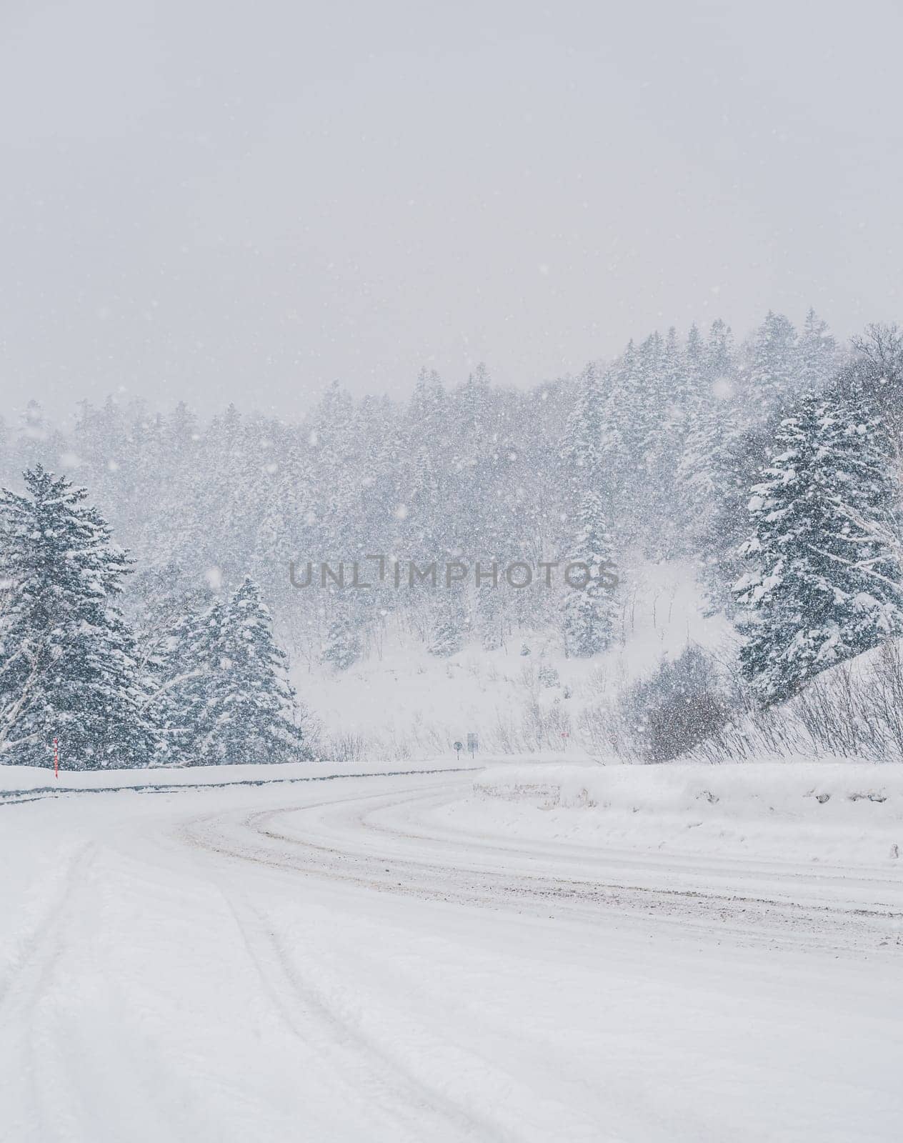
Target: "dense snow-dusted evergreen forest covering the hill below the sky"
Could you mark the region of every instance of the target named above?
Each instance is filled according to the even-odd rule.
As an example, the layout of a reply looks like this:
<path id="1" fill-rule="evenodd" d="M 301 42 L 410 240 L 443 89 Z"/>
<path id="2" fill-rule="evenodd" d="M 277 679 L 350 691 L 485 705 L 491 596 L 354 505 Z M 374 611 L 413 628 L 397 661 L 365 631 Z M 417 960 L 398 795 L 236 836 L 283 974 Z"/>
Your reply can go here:
<path id="1" fill-rule="evenodd" d="M 902 389 L 895 328 L 838 345 L 810 311 L 799 330 L 768 313 L 741 343 L 721 321 L 653 333 L 530 391 L 495 386 L 482 366 L 453 387 L 424 371 L 406 402 L 335 384 L 296 423 L 232 406 L 201 423 L 184 403 L 152 414 L 110 398 L 62 431 L 31 403 L 0 450 L 0 746 L 42 758 L 54 710 L 93 702 L 59 663 L 78 676 L 90 662 L 110 704 L 104 750 L 286 757 L 306 749 L 286 652 L 344 670 L 402 616 L 440 656 L 538 628 L 591 656 L 640 560 L 694 563 L 744 637 L 758 701 L 784 701 L 901 631 Z M 323 561 L 373 572 L 375 557 L 575 561 L 590 582 L 319 578 Z M 69 593 L 65 623 L 48 584 Z M 66 623 L 95 644 L 73 650 Z M 249 687 L 257 746 L 235 738 Z"/>

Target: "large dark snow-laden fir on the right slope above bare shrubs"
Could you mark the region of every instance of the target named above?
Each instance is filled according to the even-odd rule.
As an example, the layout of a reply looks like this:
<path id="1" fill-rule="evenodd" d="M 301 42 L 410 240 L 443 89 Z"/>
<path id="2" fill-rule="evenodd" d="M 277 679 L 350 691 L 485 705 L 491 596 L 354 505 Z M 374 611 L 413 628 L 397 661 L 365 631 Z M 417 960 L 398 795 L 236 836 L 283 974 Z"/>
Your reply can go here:
<path id="1" fill-rule="evenodd" d="M 903 572 L 885 538 L 900 490 L 881 422 L 806 398 L 752 489 L 750 570 L 736 583 L 745 677 L 766 703 L 903 630 Z"/>

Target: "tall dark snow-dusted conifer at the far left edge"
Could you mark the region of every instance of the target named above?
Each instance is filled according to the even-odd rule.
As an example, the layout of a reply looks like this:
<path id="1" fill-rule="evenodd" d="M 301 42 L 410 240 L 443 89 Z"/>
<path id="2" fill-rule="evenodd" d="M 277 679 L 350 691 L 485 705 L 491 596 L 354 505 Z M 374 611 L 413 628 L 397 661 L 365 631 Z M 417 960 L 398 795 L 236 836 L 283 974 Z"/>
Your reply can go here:
<path id="1" fill-rule="evenodd" d="M 0 753 L 49 765 L 56 737 L 70 767 L 144 766 L 155 740 L 115 604 L 130 561 L 83 488 L 40 464 L 24 480 L 0 491 Z"/>

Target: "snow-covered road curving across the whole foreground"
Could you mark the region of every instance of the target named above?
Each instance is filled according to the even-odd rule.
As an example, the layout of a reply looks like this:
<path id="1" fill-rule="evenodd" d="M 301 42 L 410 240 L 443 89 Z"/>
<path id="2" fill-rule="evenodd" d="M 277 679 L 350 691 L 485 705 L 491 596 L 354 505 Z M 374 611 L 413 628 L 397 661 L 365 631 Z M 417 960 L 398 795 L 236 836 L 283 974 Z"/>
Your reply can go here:
<path id="1" fill-rule="evenodd" d="M 898 878 L 465 832 L 471 786 L 0 807 L 0 1140 L 900 1138 Z"/>

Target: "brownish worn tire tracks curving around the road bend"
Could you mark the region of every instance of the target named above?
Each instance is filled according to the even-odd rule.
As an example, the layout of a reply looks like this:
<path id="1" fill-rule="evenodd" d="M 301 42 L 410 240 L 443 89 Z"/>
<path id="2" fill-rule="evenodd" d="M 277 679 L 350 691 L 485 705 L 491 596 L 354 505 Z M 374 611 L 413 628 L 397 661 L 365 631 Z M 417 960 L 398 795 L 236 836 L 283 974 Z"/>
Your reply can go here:
<path id="1" fill-rule="evenodd" d="M 458 788 L 460 792 L 460 788 Z M 536 874 L 510 868 L 492 868 L 501 856 L 529 856 L 525 847 L 508 848 L 492 842 L 480 845 L 468 838 L 471 849 L 468 863 L 455 864 L 447 852 L 447 839 L 429 832 L 406 833 L 392 828 L 374 828 L 367 818 L 374 813 L 400 807 L 409 808 L 424 800 L 441 798 L 435 786 L 413 788 L 393 791 L 391 794 L 370 793 L 353 798 L 329 799 L 296 807 L 257 810 L 245 814 L 240 823 L 231 821 L 229 814 L 206 815 L 208 826 L 218 823 L 219 830 L 205 839 L 194 837 L 194 844 L 214 849 L 223 856 L 297 870 L 330 880 L 345 881 L 378 892 L 419 896 L 432 901 L 453 901 L 464 905 L 481 905 L 500 909 L 550 906 L 562 908 L 568 913 L 576 912 L 584 919 L 599 919 L 602 911 L 618 914 L 638 914 L 647 919 L 663 920 L 687 928 L 720 935 L 730 933 L 745 941 L 792 942 L 802 946 L 823 942 L 825 938 L 849 949 L 863 944 L 877 946 L 896 942 L 903 928 L 903 912 L 887 905 L 833 906 L 817 902 L 772 898 L 743 892 L 724 892 L 712 886 L 702 888 L 668 888 L 638 884 L 636 880 L 599 878 L 597 876 Z M 329 823 L 328 813 L 333 808 L 363 806 L 353 822 Z M 374 805 L 375 804 L 375 805 Z M 318 840 L 287 832 L 277 828 L 280 817 L 291 814 L 320 814 L 317 826 Z M 337 836 L 328 840 L 322 837 L 322 817 L 327 830 L 331 824 Z M 197 820 L 195 820 L 197 822 Z M 251 836 L 251 844 L 237 844 L 230 826 L 239 824 Z M 225 829 L 223 829 L 225 828 Z M 343 832 L 344 831 L 344 832 Z M 423 857 L 399 856 L 361 845 L 367 832 L 400 839 L 403 842 L 427 844 L 439 849 L 440 861 Z M 256 837 L 255 837 L 256 834 Z M 264 844 L 277 842 L 278 847 Z M 350 842 L 350 845 L 349 845 Z M 500 853 L 501 852 L 501 853 Z M 541 849 L 543 860 L 553 856 Z M 473 864 L 474 857 L 477 864 Z M 487 866 L 487 862 L 489 865 Z M 661 868 L 661 866 L 660 866 Z M 387 874 L 387 876 L 386 876 Z"/>

